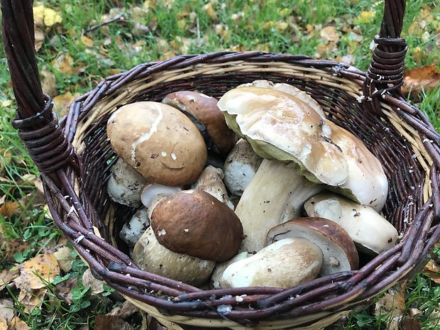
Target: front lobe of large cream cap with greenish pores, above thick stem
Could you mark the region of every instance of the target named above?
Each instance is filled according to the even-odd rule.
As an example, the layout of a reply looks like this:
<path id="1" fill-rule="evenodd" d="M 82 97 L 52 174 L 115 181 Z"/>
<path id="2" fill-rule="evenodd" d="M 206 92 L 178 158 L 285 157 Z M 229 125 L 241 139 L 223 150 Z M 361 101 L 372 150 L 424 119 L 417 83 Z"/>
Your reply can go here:
<path id="1" fill-rule="evenodd" d="M 340 148 L 331 143 L 329 121 L 304 101 L 260 87 L 231 89 L 219 104 L 226 122 L 246 136 L 263 158 L 294 161 L 309 180 L 342 185 L 348 167 Z"/>

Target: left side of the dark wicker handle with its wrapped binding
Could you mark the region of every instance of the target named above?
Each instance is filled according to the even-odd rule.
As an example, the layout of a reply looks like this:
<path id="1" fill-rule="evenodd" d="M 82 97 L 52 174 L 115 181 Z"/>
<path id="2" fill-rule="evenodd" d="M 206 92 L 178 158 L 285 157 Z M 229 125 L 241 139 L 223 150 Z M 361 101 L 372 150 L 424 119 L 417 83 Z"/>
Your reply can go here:
<path id="1" fill-rule="evenodd" d="M 40 172 L 53 172 L 76 154 L 43 94 L 35 59 L 33 0 L 1 0 L 1 25 L 6 58 L 18 109 L 12 121 Z M 75 166 L 76 167 L 76 166 Z"/>

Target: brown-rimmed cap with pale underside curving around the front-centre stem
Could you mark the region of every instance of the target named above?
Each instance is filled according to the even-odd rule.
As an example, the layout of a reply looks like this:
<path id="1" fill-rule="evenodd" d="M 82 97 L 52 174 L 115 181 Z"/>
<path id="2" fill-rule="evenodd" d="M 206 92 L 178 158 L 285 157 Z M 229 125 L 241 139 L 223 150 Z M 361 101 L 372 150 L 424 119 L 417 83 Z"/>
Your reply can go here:
<path id="1" fill-rule="evenodd" d="M 304 238 L 321 248 L 324 255 L 319 275 L 331 275 L 359 266 L 358 251 L 339 224 L 324 218 L 297 218 L 270 229 L 267 244 L 285 238 Z"/>

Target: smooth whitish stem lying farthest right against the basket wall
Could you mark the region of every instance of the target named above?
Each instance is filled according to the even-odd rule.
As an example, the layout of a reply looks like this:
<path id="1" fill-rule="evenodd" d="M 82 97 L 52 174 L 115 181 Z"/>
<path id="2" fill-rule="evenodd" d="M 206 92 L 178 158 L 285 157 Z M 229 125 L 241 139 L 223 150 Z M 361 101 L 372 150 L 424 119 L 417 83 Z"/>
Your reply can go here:
<path id="1" fill-rule="evenodd" d="M 321 216 L 338 223 L 350 235 L 359 251 L 377 255 L 397 244 L 399 233 L 372 207 L 337 194 L 317 194 L 304 204 L 309 216 Z"/>

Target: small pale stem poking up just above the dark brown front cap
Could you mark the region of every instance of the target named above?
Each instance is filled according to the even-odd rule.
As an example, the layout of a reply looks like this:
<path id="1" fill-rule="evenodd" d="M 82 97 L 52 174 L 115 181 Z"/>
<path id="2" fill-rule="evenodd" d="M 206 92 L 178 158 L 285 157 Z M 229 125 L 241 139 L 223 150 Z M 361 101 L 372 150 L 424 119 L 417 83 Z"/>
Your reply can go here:
<path id="1" fill-rule="evenodd" d="M 211 196 L 219 199 L 220 202 L 226 204 L 229 209 L 233 210 L 233 204 L 229 200 L 228 192 L 223 183 L 224 174 L 220 168 L 207 166 L 194 184 L 193 189 L 203 190 Z"/>

